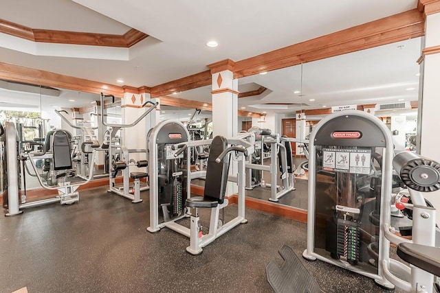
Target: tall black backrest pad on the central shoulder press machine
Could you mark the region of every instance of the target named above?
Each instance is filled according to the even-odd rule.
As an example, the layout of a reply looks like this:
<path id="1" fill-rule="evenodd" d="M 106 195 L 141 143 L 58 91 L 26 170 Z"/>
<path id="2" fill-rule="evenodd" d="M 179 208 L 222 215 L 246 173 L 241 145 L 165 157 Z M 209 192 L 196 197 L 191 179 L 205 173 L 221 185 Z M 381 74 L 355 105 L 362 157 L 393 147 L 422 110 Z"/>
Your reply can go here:
<path id="1" fill-rule="evenodd" d="M 230 155 L 224 156 L 220 163 L 215 159 L 228 146 L 228 141 L 221 136 L 212 139 L 209 151 L 208 167 L 206 168 L 205 191 L 203 197 L 218 200 L 220 204 L 225 198 L 226 184 L 228 183 L 229 158 Z"/>

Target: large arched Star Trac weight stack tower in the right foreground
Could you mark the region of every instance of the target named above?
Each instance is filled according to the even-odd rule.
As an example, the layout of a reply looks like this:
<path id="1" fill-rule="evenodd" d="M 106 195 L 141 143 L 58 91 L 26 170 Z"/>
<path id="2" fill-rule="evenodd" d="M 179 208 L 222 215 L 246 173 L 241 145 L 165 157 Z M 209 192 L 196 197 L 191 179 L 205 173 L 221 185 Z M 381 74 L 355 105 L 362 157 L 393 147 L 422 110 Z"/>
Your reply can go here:
<path id="1" fill-rule="evenodd" d="M 394 288 L 379 263 L 389 259 L 380 238 L 381 210 L 391 194 L 393 139 L 373 115 L 346 110 L 322 119 L 310 138 L 305 259 L 320 259 Z M 382 164 L 375 162 L 382 155 Z M 382 166 L 382 167 L 381 167 Z M 388 203 L 389 204 L 389 203 Z"/>

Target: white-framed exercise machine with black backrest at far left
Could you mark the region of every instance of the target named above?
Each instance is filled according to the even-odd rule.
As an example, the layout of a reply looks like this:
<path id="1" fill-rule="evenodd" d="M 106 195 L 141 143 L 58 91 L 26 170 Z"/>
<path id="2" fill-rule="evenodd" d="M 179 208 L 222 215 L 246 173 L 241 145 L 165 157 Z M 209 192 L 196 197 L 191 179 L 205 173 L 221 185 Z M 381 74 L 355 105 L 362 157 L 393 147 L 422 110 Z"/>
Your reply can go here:
<path id="1" fill-rule="evenodd" d="M 67 181 L 67 178 L 75 176 L 75 172 L 72 169 L 72 160 L 70 157 L 71 145 L 69 136 L 64 130 L 56 130 L 50 137 L 51 149 L 46 151 L 43 143 L 41 147 L 43 150 L 36 152 L 25 152 L 19 156 L 17 150 L 17 130 L 14 123 L 6 122 L 5 129 L 5 154 L 6 154 L 6 166 L 8 168 L 7 176 L 7 209 L 6 215 L 17 215 L 22 213 L 20 209 L 28 207 L 37 207 L 43 204 L 50 204 L 53 202 L 60 202 L 61 204 L 72 204 L 79 200 L 79 194 L 76 189 L 81 185 L 89 183 L 91 176 L 93 175 L 93 169 L 89 171 L 89 178 L 85 181 L 71 183 Z M 92 152 L 92 159 L 94 159 L 94 152 Z M 57 185 L 47 185 L 47 182 L 39 174 L 39 167 L 36 167 L 35 160 L 49 159 L 50 170 L 55 173 Z M 49 190 L 57 190 L 58 196 L 55 198 L 48 198 L 45 200 L 37 200 L 35 202 L 25 202 L 25 198 L 19 200 L 19 160 L 30 161 L 36 177 L 39 180 L 41 187 Z M 3 196 L 4 199 L 4 196 Z M 3 202 L 4 204 L 5 202 Z"/>

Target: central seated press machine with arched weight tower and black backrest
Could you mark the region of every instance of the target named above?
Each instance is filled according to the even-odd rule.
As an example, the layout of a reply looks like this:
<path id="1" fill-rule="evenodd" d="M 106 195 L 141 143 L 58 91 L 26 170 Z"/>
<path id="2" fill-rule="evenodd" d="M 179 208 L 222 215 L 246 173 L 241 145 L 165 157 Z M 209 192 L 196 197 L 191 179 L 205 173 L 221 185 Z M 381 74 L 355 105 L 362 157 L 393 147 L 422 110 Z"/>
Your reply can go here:
<path id="1" fill-rule="evenodd" d="M 148 135 L 150 177 L 150 225 L 151 233 L 167 227 L 190 238 L 186 251 L 199 255 L 202 248 L 235 226 L 247 222 L 245 219 L 244 185 L 239 185 L 238 215 L 227 223 L 219 225 L 219 212 L 228 205 L 225 198 L 228 180 L 244 183 L 245 156 L 252 154 L 254 145 L 243 139 L 212 139 L 206 185 L 203 196 L 190 197 L 189 132 L 179 121 L 162 121 Z M 232 145 L 228 148 L 228 145 Z M 230 152 L 236 152 L 237 176 L 228 176 Z M 159 208 L 163 222 L 159 222 Z M 203 235 L 198 209 L 210 209 L 208 234 Z M 190 211 L 189 211 L 190 209 Z M 190 217 L 190 228 L 177 221 Z M 224 220 L 224 219 L 223 219 Z"/>

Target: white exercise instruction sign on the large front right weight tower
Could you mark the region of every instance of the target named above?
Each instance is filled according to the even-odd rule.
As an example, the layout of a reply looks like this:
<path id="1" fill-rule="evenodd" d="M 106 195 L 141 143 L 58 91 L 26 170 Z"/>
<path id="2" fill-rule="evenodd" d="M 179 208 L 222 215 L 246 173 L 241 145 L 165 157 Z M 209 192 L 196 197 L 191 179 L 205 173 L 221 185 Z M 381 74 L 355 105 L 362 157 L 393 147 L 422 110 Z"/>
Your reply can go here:
<path id="1" fill-rule="evenodd" d="M 322 149 L 322 169 L 353 174 L 370 174 L 371 150 Z"/>

